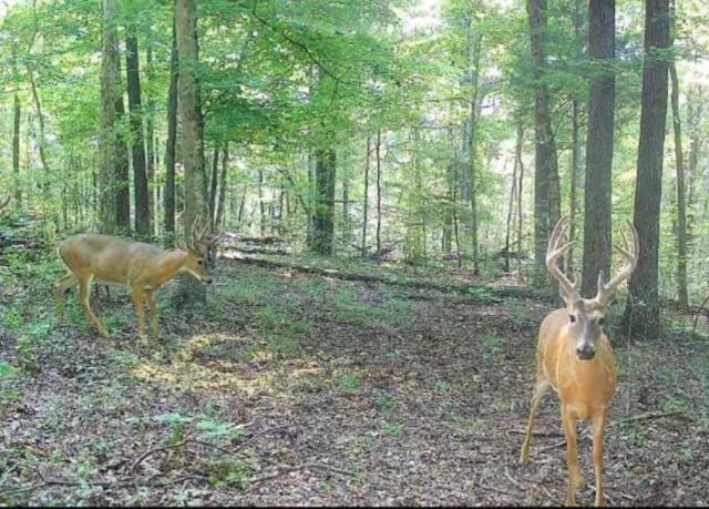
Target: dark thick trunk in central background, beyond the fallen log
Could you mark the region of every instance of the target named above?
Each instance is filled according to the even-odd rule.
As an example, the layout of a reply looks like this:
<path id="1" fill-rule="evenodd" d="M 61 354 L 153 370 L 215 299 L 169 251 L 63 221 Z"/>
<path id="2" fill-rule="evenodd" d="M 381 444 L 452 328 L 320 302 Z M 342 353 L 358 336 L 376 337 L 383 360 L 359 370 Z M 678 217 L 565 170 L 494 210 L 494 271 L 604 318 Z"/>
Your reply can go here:
<path id="1" fill-rule="evenodd" d="M 316 152 L 315 181 L 316 207 L 312 248 L 316 253 L 331 256 L 335 237 L 335 150 Z"/>

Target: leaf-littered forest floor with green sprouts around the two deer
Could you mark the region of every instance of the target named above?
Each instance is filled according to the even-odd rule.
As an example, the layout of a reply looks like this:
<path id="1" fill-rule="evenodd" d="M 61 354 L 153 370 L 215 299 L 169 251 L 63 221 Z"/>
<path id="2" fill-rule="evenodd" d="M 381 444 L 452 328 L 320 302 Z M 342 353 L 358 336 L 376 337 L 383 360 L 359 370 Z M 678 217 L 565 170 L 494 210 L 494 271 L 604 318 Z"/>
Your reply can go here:
<path id="1" fill-rule="evenodd" d="M 161 291 L 165 339 L 142 345 L 124 291 L 92 301 L 111 338 L 75 291 L 58 327 L 54 268 L 0 288 L 1 505 L 565 501 L 553 393 L 517 464 L 547 302 L 224 261 L 201 308 Z M 709 350 L 684 327 L 615 345 L 608 503 L 709 505 Z M 585 431 L 579 451 L 593 485 Z"/>

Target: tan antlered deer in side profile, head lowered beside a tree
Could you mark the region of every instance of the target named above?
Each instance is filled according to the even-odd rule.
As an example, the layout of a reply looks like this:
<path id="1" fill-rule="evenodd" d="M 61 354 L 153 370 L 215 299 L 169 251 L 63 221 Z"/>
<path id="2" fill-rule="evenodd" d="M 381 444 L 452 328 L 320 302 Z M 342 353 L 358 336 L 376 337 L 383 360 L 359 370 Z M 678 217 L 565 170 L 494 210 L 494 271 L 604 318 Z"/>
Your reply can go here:
<path id="1" fill-rule="evenodd" d="M 153 334 L 160 337 L 157 309 L 154 293 L 163 284 L 182 273 L 189 273 L 203 283 L 210 284 L 212 276 L 205 259 L 219 240 L 218 235 L 207 237 L 208 225 L 197 234 L 199 218 L 195 220 L 188 244 L 178 242 L 176 250 L 166 252 L 143 242 L 133 242 L 112 235 L 80 234 L 66 238 L 59 245 L 59 255 L 69 272 L 54 283 L 54 298 L 59 322 L 64 318 L 63 294 L 70 286 L 79 284 L 79 299 L 99 333 L 109 333 L 89 306 L 91 281 L 107 285 L 130 286 L 137 314 L 138 334 L 145 338 L 143 296 L 147 297 L 153 318 Z"/>

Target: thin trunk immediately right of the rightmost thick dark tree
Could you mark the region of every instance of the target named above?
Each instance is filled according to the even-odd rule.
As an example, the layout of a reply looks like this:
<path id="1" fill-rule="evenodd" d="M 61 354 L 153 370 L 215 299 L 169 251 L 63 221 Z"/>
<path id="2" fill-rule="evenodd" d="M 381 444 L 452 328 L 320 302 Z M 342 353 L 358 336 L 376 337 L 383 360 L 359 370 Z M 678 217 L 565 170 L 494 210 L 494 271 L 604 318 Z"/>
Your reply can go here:
<path id="1" fill-rule="evenodd" d="M 671 6 L 670 45 L 674 44 L 675 3 Z M 672 128 L 675 132 L 675 170 L 677 172 L 677 303 L 682 309 L 689 307 L 687 292 L 687 208 L 685 201 L 685 160 L 682 154 L 682 131 L 679 116 L 679 79 L 675 59 L 669 63 L 669 75 L 672 81 Z"/>

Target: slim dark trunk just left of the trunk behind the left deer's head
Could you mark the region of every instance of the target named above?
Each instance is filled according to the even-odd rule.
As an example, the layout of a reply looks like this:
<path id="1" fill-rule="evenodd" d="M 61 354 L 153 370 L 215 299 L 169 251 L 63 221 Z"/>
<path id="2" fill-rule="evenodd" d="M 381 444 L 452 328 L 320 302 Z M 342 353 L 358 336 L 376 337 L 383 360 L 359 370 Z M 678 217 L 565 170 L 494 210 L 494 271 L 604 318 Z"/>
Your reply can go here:
<path id="1" fill-rule="evenodd" d="M 169 90 L 167 92 L 167 140 L 165 141 L 165 189 L 163 203 L 165 207 L 165 233 L 175 234 L 175 143 L 177 139 L 177 84 L 179 69 L 177 61 L 177 34 L 173 19 L 173 47 L 169 54 Z"/>

